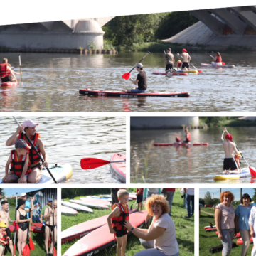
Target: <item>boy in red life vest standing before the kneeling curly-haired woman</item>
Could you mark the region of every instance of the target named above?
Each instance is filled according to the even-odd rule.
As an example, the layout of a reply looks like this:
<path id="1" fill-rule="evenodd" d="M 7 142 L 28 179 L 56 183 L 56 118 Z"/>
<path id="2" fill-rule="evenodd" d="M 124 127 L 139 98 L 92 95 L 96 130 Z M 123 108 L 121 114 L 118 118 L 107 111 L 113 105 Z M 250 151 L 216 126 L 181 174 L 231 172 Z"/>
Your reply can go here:
<path id="1" fill-rule="evenodd" d="M 107 224 L 110 233 L 114 234 L 117 240 L 117 256 L 125 255 L 127 245 L 127 228 L 124 222 L 129 220 L 129 193 L 125 189 L 120 189 L 117 193 L 119 203 L 112 206 L 112 213 L 107 217 Z"/>

